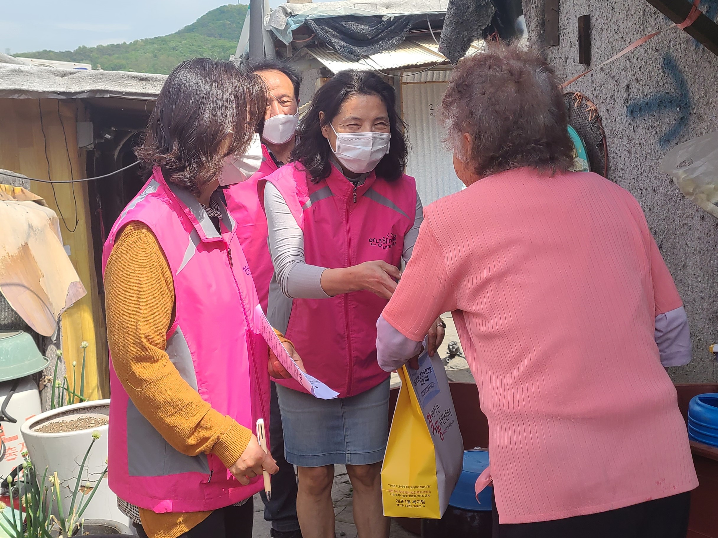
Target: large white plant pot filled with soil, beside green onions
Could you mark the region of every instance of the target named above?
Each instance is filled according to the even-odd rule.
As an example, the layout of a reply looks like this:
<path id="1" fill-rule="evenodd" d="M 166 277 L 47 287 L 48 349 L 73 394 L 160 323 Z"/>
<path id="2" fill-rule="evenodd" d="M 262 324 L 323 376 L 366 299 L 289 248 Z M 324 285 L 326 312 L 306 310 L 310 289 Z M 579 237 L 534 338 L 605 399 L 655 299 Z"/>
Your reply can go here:
<path id="1" fill-rule="evenodd" d="M 47 468 L 47 476 L 57 473 L 62 491 L 62 506 L 65 514 L 70 509 L 75 483 L 78 479 L 80 464 L 85 457 L 93 432 L 98 432 L 100 438 L 95 441 L 90 455 L 85 463 L 82 486 L 86 483 L 95 483 L 107 466 L 107 434 L 108 426 L 89 430 L 79 430 L 67 433 L 40 433 L 35 428 L 50 422 L 74 420 L 86 416 L 108 416 L 110 400 L 97 400 L 74 405 L 58 407 L 36 417 L 32 417 L 22 425 L 24 438 L 30 461 L 34 464 L 39 478 Z M 129 525 L 129 519 L 117 508 L 117 496 L 108 486 L 107 477 L 97 487 L 97 492 L 83 514 L 84 519 L 111 519 L 124 525 Z M 89 491 L 86 492 L 89 494 Z M 80 495 L 80 494 L 78 494 Z"/>

